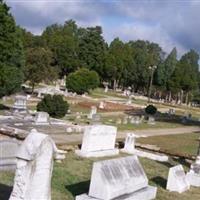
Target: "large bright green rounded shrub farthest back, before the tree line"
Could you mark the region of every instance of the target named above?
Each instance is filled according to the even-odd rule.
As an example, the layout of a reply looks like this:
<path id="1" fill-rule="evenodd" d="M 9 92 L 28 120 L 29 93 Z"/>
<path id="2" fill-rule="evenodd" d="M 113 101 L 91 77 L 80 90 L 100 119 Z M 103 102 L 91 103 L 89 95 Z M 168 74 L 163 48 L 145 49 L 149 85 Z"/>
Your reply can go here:
<path id="1" fill-rule="evenodd" d="M 72 92 L 83 94 L 89 92 L 99 85 L 99 76 L 95 71 L 89 71 L 81 68 L 74 73 L 68 75 L 66 79 L 66 87 Z"/>

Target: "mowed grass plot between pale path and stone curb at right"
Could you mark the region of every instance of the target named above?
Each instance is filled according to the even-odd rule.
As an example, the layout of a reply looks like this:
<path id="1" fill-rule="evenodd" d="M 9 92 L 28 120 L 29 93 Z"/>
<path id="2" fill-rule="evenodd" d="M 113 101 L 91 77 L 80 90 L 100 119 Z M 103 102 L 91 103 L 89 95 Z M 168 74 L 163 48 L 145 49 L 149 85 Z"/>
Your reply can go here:
<path id="1" fill-rule="evenodd" d="M 200 138 L 200 133 L 187 133 L 139 138 L 136 142 L 156 145 L 161 150 L 167 150 L 171 153 L 196 155 L 199 144 L 198 138 Z"/>

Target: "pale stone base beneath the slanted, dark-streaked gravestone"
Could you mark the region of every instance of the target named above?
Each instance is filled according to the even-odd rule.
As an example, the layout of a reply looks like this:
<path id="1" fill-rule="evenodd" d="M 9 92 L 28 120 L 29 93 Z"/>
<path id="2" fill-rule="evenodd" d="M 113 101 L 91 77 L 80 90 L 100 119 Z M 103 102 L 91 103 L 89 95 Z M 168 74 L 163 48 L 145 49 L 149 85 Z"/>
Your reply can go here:
<path id="1" fill-rule="evenodd" d="M 156 198 L 157 188 L 147 186 L 141 190 L 115 198 L 114 200 L 151 200 Z M 76 200 L 100 200 L 87 194 L 76 196 Z"/>

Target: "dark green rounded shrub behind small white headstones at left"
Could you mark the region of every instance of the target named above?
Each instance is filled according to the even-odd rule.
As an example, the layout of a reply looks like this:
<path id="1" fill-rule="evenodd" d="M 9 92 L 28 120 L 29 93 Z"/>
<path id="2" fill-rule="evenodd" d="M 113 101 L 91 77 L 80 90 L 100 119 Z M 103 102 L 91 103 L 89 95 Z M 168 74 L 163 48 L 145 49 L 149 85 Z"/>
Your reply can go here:
<path id="1" fill-rule="evenodd" d="M 69 104 L 63 100 L 61 95 L 45 95 L 37 104 L 37 111 L 49 113 L 51 117 L 62 118 L 67 113 Z"/>

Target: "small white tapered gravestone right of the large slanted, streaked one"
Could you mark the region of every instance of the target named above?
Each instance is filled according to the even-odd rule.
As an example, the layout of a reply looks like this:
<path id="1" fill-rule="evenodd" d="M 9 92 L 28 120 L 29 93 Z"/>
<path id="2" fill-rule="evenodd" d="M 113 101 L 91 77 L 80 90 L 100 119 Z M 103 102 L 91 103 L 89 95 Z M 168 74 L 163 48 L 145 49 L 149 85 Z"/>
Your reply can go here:
<path id="1" fill-rule="evenodd" d="M 185 192 L 190 189 L 190 184 L 186 178 L 182 165 L 176 165 L 169 169 L 167 190 L 173 192 Z"/>

